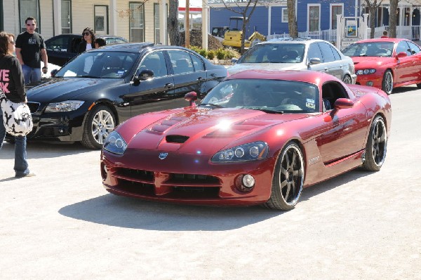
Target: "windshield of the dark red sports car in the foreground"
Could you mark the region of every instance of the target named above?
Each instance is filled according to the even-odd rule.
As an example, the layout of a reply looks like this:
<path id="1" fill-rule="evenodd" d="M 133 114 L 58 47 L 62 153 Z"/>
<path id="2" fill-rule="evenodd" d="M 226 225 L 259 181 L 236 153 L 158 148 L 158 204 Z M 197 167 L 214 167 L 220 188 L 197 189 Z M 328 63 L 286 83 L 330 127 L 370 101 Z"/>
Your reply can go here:
<path id="1" fill-rule="evenodd" d="M 234 79 L 215 86 L 200 106 L 313 113 L 319 112 L 319 89 L 314 84 L 298 81 Z"/>

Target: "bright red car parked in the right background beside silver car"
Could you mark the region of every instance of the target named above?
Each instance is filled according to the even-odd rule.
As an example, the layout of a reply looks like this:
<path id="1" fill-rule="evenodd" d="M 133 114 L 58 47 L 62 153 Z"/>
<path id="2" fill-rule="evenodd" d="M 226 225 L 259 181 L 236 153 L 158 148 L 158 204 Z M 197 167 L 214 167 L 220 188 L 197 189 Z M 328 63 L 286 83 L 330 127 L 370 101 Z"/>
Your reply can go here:
<path id="1" fill-rule="evenodd" d="M 354 60 L 356 84 L 392 93 L 399 86 L 421 88 L 421 48 L 413 41 L 397 38 L 357 41 L 344 50 Z"/>

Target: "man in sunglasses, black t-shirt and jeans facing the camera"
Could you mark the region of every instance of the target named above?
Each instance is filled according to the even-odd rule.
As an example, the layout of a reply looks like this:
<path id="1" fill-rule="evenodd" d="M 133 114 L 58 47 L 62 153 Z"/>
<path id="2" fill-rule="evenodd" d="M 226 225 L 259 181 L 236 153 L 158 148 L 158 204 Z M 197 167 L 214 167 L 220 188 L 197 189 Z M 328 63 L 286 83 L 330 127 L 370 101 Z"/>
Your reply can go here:
<path id="1" fill-rule="evenodd" d="M 48 71 L 48 57 L 44 38 L 35 32 L 36 20 L 29 17 L 25 25 L 27 30 L 16 38 L 16 57 L 22 65 L 25 84 L 29 84 L 41 80 L 41 60 L 44 62 L 42 72 Z"/>

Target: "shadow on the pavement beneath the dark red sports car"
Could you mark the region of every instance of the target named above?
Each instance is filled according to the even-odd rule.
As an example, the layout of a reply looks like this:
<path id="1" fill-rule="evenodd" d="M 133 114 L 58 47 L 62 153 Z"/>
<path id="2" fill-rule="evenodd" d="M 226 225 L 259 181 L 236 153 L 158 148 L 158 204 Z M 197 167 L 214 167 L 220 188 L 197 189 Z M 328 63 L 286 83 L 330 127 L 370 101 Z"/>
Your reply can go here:
<path id="1" fill-rule="evenodd" d="M 351 171 L 338 178 L 304 189 L 301 201 L 368 174 L 370 173 Z M 300 207 L 300 201 L 297 207 Z M 300 209 L 292 211 L 300 211 Z M 166 204 L 105 194 L 65 206 L 59 213 L 69 218 L 114 227 L 159 231 L 223 231 L 253 225 L 288 212 L 274 211 L 260 206 L 212 207 Z"/>

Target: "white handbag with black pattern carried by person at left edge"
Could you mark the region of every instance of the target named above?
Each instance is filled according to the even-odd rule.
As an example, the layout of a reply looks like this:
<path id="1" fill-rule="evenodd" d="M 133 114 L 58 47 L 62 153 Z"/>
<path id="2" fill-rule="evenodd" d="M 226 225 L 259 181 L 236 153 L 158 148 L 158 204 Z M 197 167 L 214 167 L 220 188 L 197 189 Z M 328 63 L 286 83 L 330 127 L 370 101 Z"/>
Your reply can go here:
<path id="1" fill-rule="evenodd" d="M 13 136 L 25 136 L 32 131 L 32 115 L 25 102 L 15 103 L 0 91 L 0 105 L 6 133 Z"/>

